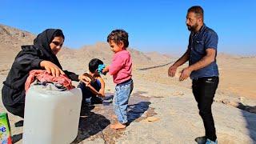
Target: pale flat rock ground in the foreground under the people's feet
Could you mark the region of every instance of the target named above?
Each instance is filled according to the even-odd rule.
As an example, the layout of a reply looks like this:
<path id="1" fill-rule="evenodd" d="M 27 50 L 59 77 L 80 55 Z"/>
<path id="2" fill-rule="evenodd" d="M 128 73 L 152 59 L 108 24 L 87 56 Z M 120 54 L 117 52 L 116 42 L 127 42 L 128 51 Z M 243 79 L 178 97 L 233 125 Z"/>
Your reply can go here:
<path id="1" fill-rule="evenodd" d="M 178 82 L 177 77 L 166 76 L 174 83 L 165 84 L 158 81 L 166 74 L 154 75 L 155 81 L 152 81 L 147 78 L 150 70 L 137 69 L 134 69 L 134 92 L 130 98 L 130 125 L 125 130 L 111 130 L 110 123 L 114 122 L 110 118 L 113 114 L 111 104 L 86 106 L 82 109 L 78 138 L 73 143 L 196 143 L 194 138 L 204 134 L 190 80 Z M 152 70 L 167 69 L 168 66 L 162 66 Z M 2 72 L 1 80 L 5 77 L 6 72 Z M 114 92 L 114 84 L 110 76 L 104 79 L 110 96 Z M 256 106 L 254 99 L 229 96 L 221 90 L 216 94 L 213 114 L 219 143 L 256 142 L 256 114 L 235 107 L 238 102 L 251 110 Z M 6 111 L 3 106 L 0 110 Z M 22 127 L 14 127 L 14 122 L 21 119 L 12 114 L 9 117 L 12 134 L 19 140 Z M 17 143 L 22 143 L 22 139 Z"/>

